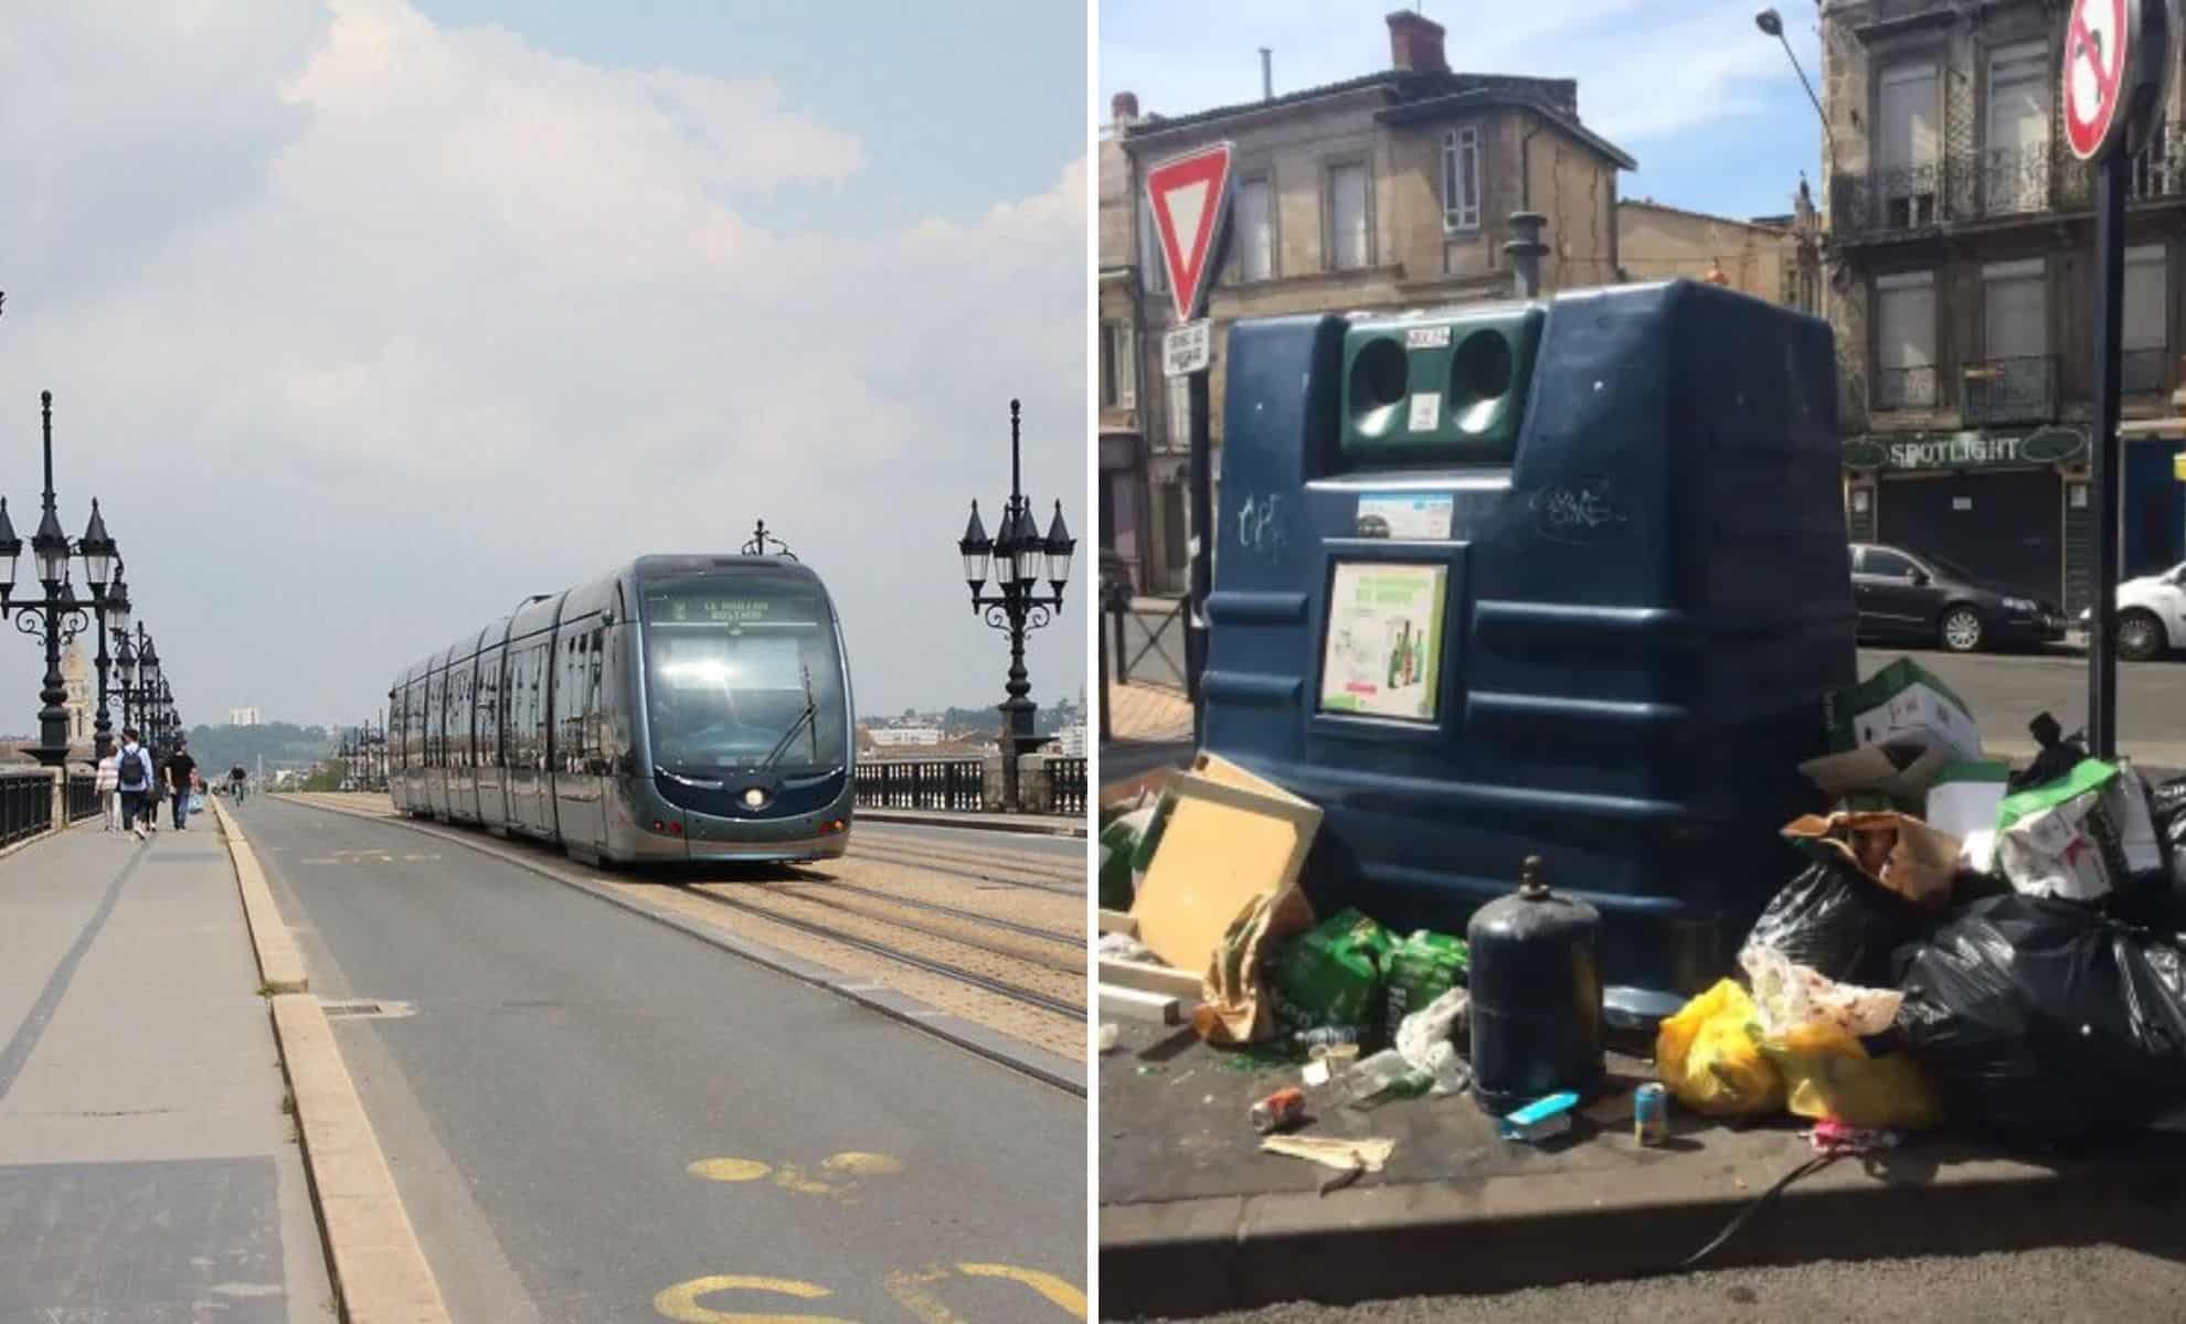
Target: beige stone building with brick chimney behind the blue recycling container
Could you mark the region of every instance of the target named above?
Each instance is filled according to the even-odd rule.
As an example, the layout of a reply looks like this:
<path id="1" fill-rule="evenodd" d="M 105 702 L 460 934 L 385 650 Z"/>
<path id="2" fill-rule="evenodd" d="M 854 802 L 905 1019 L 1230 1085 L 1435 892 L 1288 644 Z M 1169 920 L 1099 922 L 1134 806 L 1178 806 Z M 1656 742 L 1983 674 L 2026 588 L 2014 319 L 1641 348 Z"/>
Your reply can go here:
<path id="1" fill-rule="evenodd" d="M 1213 400 L 1239 317 L 1506 297 L 1511 212 L 1548 218 L 1543 291 L 1618 280 L 1618 170 L 1635 162 L 1585 127 L 1578 85 L 1454 72 L 1438 24 L 1412 11 L 1386 22 L 1390 68 L 1342 83 L 1174 118 L 1115 98 L 1100 149 L 1100 535 L 1139 592 L 1180 592 L 1189 548 L 1185 389 L 1161 376 L 1174 315 L 1143 201 L 1150 166 L 1233 144 L 1229 251 L 1207 302 Z"/>

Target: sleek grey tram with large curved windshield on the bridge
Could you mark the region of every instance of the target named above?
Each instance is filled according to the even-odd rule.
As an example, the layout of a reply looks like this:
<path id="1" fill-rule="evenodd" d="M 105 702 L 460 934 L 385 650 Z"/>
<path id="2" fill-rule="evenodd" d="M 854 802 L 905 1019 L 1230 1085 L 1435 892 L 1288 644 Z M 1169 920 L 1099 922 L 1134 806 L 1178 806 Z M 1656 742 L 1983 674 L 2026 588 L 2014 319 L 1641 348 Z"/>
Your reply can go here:
<path id="1" fill-rule="evenodd" d="M 835 859 L 857 791 L 850 664 L 787 555 L 656 555 L 404 669 L 389 791 L 586 863 Z"/>

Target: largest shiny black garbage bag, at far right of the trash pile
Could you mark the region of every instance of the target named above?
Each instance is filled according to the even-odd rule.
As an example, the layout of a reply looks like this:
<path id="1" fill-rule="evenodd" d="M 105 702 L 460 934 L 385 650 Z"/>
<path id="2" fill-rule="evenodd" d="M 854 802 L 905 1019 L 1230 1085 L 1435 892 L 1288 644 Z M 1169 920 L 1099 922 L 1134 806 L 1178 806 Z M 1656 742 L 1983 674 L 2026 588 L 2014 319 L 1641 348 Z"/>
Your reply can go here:
<path id="1" fill-rule="evenodd" d="M 2147 929 L 1996 896 L 1897 964 L 1895 1029 L 1961 1125 L 2085 1140 L 2186 1101 L 2186 953 Z"/>

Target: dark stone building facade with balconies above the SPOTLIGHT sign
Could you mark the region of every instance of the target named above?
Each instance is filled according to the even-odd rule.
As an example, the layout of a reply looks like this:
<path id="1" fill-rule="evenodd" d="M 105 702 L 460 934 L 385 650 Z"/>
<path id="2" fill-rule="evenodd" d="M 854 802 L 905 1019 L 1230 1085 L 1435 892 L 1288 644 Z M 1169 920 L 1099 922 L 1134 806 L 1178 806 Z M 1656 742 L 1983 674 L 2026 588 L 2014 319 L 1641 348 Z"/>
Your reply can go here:
<path id="1" fill-rule="evenodd" d="M 2064 4 L 1821 0 L 1832 326 L 1854 540 L 2090 601 L 2094 175 L 2064 146 Z M 2186 85 L 2131 162 L 2125 570 L 2186 557 Z"/>

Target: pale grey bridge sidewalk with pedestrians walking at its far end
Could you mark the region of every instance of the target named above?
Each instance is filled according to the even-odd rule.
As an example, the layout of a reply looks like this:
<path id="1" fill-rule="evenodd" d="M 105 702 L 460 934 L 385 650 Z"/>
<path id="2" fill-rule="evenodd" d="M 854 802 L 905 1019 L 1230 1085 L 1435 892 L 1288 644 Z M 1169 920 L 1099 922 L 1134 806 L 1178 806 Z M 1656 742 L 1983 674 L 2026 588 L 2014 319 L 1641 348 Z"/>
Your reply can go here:
<path id="1" fill-rule="evenodd" d="M 332 1324 L 212 815 L 0 859 L 0 1320 Z"/>

